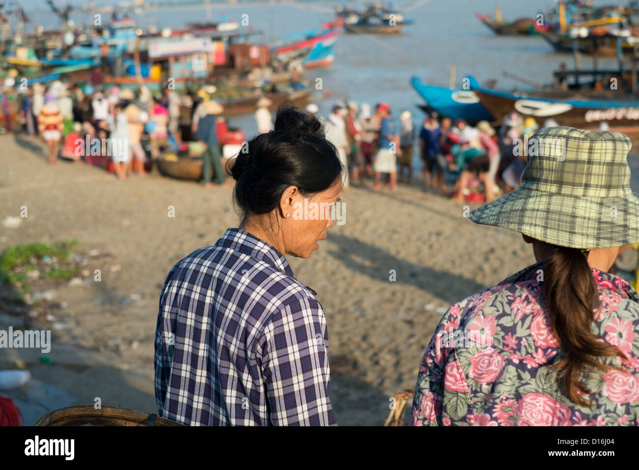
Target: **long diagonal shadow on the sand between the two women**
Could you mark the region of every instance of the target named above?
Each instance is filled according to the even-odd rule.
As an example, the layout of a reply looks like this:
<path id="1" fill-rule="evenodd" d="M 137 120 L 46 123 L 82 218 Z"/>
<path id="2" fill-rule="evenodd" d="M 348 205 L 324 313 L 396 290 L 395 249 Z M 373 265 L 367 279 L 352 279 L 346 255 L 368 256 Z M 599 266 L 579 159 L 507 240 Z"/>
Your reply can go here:
<path id="1" fill-rule="evenodd" d="M 413 285 L 450 304 L 488 287 L 458 274 L 402 260 L 353 237 L 331 232 L 330 241 L 337 244 L 339 249 L 329 250 L 328 253 L 350 269 L 366 274 L 371 279 L 385 282 L 389 282 L 389 270 L 394 269 L 397 283 Z M 433 279 L 437 279 L 436 284 L 431 283 Z"/>

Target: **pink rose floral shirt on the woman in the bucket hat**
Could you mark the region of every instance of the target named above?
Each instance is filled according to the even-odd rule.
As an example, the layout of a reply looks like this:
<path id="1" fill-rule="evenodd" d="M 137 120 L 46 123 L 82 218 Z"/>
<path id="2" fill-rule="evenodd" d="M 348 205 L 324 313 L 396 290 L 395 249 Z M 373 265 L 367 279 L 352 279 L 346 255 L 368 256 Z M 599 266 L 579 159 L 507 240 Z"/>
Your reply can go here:
<path id="1" fill-rule="evenodd" d="M 601 308 L 591 329 L 626 355 L 588 379 L 592 407 L 566 394 L 549 366 L 564 357 L 543 295 L 544 262 L 454 304 L 419 368 L 413 426 L 639 425 L 639 294 L 592 269 Z"/>

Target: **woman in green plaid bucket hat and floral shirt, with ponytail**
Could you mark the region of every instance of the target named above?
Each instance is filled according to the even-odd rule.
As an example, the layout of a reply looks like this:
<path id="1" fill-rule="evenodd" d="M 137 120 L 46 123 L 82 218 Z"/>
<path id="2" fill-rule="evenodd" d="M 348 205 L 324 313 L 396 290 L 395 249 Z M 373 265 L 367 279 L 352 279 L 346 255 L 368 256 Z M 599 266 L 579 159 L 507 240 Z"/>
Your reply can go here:
<path id="1" fill-rule="evenodd" d="M 630 147 L 619 132 L 541 129 L 520 187 L 470 212 L 522 233 L 537 263 L 445 313 L 413 425 L 639 424 L 639 295 L 608 272 L 639 241 Z"/>

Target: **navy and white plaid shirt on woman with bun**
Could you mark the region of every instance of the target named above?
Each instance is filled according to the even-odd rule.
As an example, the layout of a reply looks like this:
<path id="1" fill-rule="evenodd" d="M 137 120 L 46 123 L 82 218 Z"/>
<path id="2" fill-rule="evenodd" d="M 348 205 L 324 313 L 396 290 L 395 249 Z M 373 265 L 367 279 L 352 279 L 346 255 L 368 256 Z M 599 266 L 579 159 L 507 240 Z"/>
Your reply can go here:
<path id="1" fill-rule="evenodd" d="M 328 332 L 286 258 L 229 228 L 178 262 L 155 333 L 160 416 L 187 425 L 336 425 Z"/>

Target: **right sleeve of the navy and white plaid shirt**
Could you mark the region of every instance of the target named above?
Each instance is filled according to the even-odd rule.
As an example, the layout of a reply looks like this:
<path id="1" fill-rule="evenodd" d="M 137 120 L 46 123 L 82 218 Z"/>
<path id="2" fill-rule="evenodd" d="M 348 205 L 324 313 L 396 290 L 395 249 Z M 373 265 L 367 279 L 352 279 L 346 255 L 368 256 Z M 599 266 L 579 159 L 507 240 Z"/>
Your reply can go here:
<path id="1" fill-rule="evenodd" d="M 335 426 L 328 399 L 328 332 L 316 299 L 284 306 L 265 329 L 259 358 L 274 426 Z"/>

